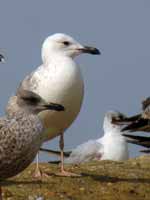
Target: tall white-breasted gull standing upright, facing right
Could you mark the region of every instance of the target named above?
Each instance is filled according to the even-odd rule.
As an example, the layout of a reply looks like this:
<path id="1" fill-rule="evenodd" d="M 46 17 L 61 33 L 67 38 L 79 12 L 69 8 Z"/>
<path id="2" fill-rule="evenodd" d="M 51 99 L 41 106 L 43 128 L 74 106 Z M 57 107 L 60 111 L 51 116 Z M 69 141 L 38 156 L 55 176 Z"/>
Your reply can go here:
<path id="1" fill-rule="evenodd" d="M 80 67 L 74 61 L 82 53 L 98 55 L 100 51 L 83 46 L 63 33 L 49 36 L 42 45 L 42 65 L 28 75 L 19 87 L 39 94 L 47 102 L 57 102 L 66 108 L 63 113 L 46 111 L 40 114 L 47 128 L 45 141 L 60 136 L 61 172 L 58 174 L 62 176 L 73 175 L 64 170 L 64 132 L 77 117 L 83 101 L 83 78 Z M 35 176 L 41 176 L 38 162 Z"/>

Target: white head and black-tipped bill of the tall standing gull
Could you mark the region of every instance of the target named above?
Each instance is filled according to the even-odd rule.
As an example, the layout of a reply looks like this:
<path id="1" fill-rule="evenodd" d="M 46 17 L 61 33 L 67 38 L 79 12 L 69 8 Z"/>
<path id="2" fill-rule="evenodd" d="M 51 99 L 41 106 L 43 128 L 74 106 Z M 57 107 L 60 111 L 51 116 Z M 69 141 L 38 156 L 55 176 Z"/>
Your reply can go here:
<path id="1" fill-rule="evenodd" d="M 56 33 L 45 39 L 42 46 L 42 59 L 45 61 L 51 56 L 60 55 L 74 58 L 81 53 L 100 54 L 95 47 L 83 46 L 71 36 Z"/>

